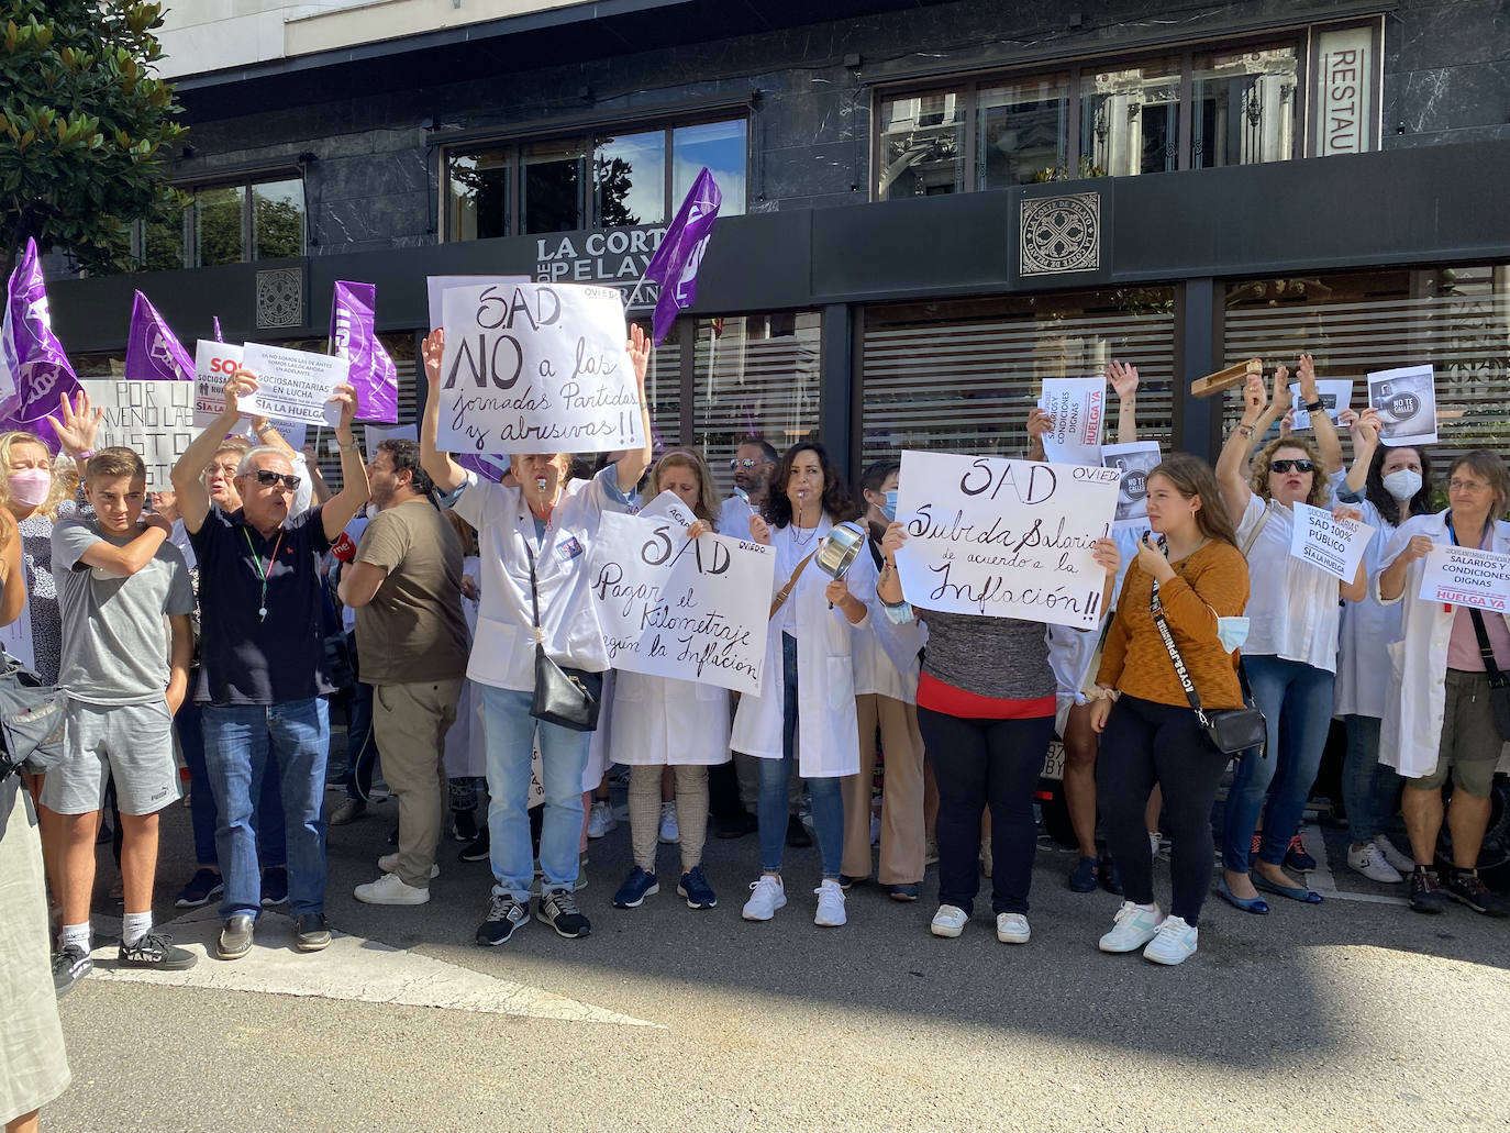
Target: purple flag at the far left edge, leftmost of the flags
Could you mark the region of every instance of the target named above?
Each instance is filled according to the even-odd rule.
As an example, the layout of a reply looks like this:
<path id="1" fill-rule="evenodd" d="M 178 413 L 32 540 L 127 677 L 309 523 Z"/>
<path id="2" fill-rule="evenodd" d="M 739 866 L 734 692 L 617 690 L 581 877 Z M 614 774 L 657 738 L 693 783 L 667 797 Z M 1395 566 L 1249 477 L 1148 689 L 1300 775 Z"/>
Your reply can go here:
<path id="1" fill-rule="evenodd" d="M 0 429 L 26 429 L 56 449 L 47 414 L 57 412 L 59 394 L 77 391 L 74 367 L 53 334 L 36 242 L 29 239 L 11 272 L 0 319 Z"/>

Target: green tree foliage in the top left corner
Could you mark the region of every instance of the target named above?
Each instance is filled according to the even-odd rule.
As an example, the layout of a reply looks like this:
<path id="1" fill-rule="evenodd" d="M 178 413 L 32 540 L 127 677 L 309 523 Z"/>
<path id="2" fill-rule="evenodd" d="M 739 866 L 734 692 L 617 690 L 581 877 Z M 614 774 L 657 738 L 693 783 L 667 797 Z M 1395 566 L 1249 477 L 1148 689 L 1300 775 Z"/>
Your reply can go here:
<path id="1" fill-rule="evenodd" d="M 162 5 L 0 0 L 0 252 L 27 237 L 91 272 L 131 267 L 122 230 L 172 222 L 166 183 L 184 136 L 174 88 L 156 77 Z"/>

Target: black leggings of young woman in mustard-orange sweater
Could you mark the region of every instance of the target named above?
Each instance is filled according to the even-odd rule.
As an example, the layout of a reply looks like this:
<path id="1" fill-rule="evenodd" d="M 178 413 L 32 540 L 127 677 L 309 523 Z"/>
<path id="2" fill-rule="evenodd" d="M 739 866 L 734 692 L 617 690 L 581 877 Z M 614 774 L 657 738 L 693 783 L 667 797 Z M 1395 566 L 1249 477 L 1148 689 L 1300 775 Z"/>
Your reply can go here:
<path id="1" fill-rule="evenodd" d="M 1143 811 L 1158 783 L 1173 838 L 1170 912 L 1188 925 L 1200 918 L 1216 855 L 1211 807 L 1226 764 L 1228 757 L 1211 745 L 1188 705 L 1123 695 L 1111 707 L 1096 760 L 1096 804 L 1128 900 L 1137 905 L 1154 900 L 1154 860 Z"/>

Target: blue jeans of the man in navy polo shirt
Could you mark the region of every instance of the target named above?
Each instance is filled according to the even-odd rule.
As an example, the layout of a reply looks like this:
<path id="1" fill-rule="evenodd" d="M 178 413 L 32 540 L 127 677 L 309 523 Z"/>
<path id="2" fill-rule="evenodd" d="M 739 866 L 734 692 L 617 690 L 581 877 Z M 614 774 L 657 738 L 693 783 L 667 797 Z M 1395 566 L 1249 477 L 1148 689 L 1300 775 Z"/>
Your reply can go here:
<path id="1" fill-rule="evenodd" d="M 287 822 L 288 912 L 325 911 L 325 760 L 331 718 L 319 696 L 285 704 L 204 709 L 204 763 L 220 820 L 214 831 L 225 878 L 220 918 L 261 909 L 252 799 L 270 772 Z"/>

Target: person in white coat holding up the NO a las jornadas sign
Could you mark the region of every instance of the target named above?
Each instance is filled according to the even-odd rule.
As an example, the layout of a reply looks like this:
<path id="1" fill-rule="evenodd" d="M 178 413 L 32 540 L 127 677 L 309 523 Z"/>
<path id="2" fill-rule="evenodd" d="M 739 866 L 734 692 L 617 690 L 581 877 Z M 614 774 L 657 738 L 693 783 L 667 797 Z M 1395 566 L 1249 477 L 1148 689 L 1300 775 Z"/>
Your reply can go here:
<path id="1" fill-rule="evenodd" d="M 651 346 L 640 326 L 631 328 L 625 349 L 645 406 Z M 536 654 L 532 647 L 544 645 L 568 677 L 575 677 L 593 696 L 602 695 L 609 654 L 592 604 L 587 559 L 602 512 L 628 511 L 630 494 L 651 462 L 649 412 L 642 408 L 645 447 L 624 453 L 596 476 L 568 482 L 569 453 L 516 453 L 510 468 L 518 486 L 488 483 L 436 447 L 444 350 L 444 331 L 430 331 L 424 340 L 430 396 L 420 426 L 420 453 L 424 471 L 445 494 L 445 505 L 476 529 L 482 550 L 482 606 L 467 677 L 483 702 L 494 885 L 476 938 L 485 946 L 503 944 L 530 918 L 535 855 L 527 805 L 538 731 L 545 811 L 536 918 L 556 935 L 577 940 L 592 932 L 574 896 L 592 733 L 530 715 Z"/>

